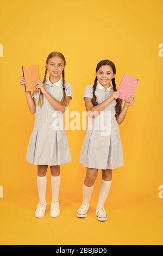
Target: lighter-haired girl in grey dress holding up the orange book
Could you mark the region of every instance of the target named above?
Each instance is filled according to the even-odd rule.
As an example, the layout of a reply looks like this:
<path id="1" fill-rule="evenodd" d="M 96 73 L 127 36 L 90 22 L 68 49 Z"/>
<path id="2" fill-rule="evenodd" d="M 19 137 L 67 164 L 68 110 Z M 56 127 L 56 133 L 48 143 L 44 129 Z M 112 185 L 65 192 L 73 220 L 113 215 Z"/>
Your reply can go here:
<path id="1" fill-rule="evenodd" d="M 36 113 L 35 124 L 30 136 L 26 160 L 37 165 L 37 188 L 39 203 L 35 217 L 42 218 L 46 210 L 46 172 L 48 165 L 51 168 L 52 203 L 51 217 L 60 215 L 60 165 L 71 161 L 65 129 L 54 129 L 54 121 L 62 120 L 65 107 L 72 99 L 72 86 L 65 81 L 66 60 L 62 53 L 51 52 L 46 59 L 45 76 L 43 81 L 37 81 L 33 98 L 26 92 L 27 103 L 31 113 Z M 47 76 L 49 71 L 49 77 Z M 21 77 L 21 86 L 26 81 Z"/>

